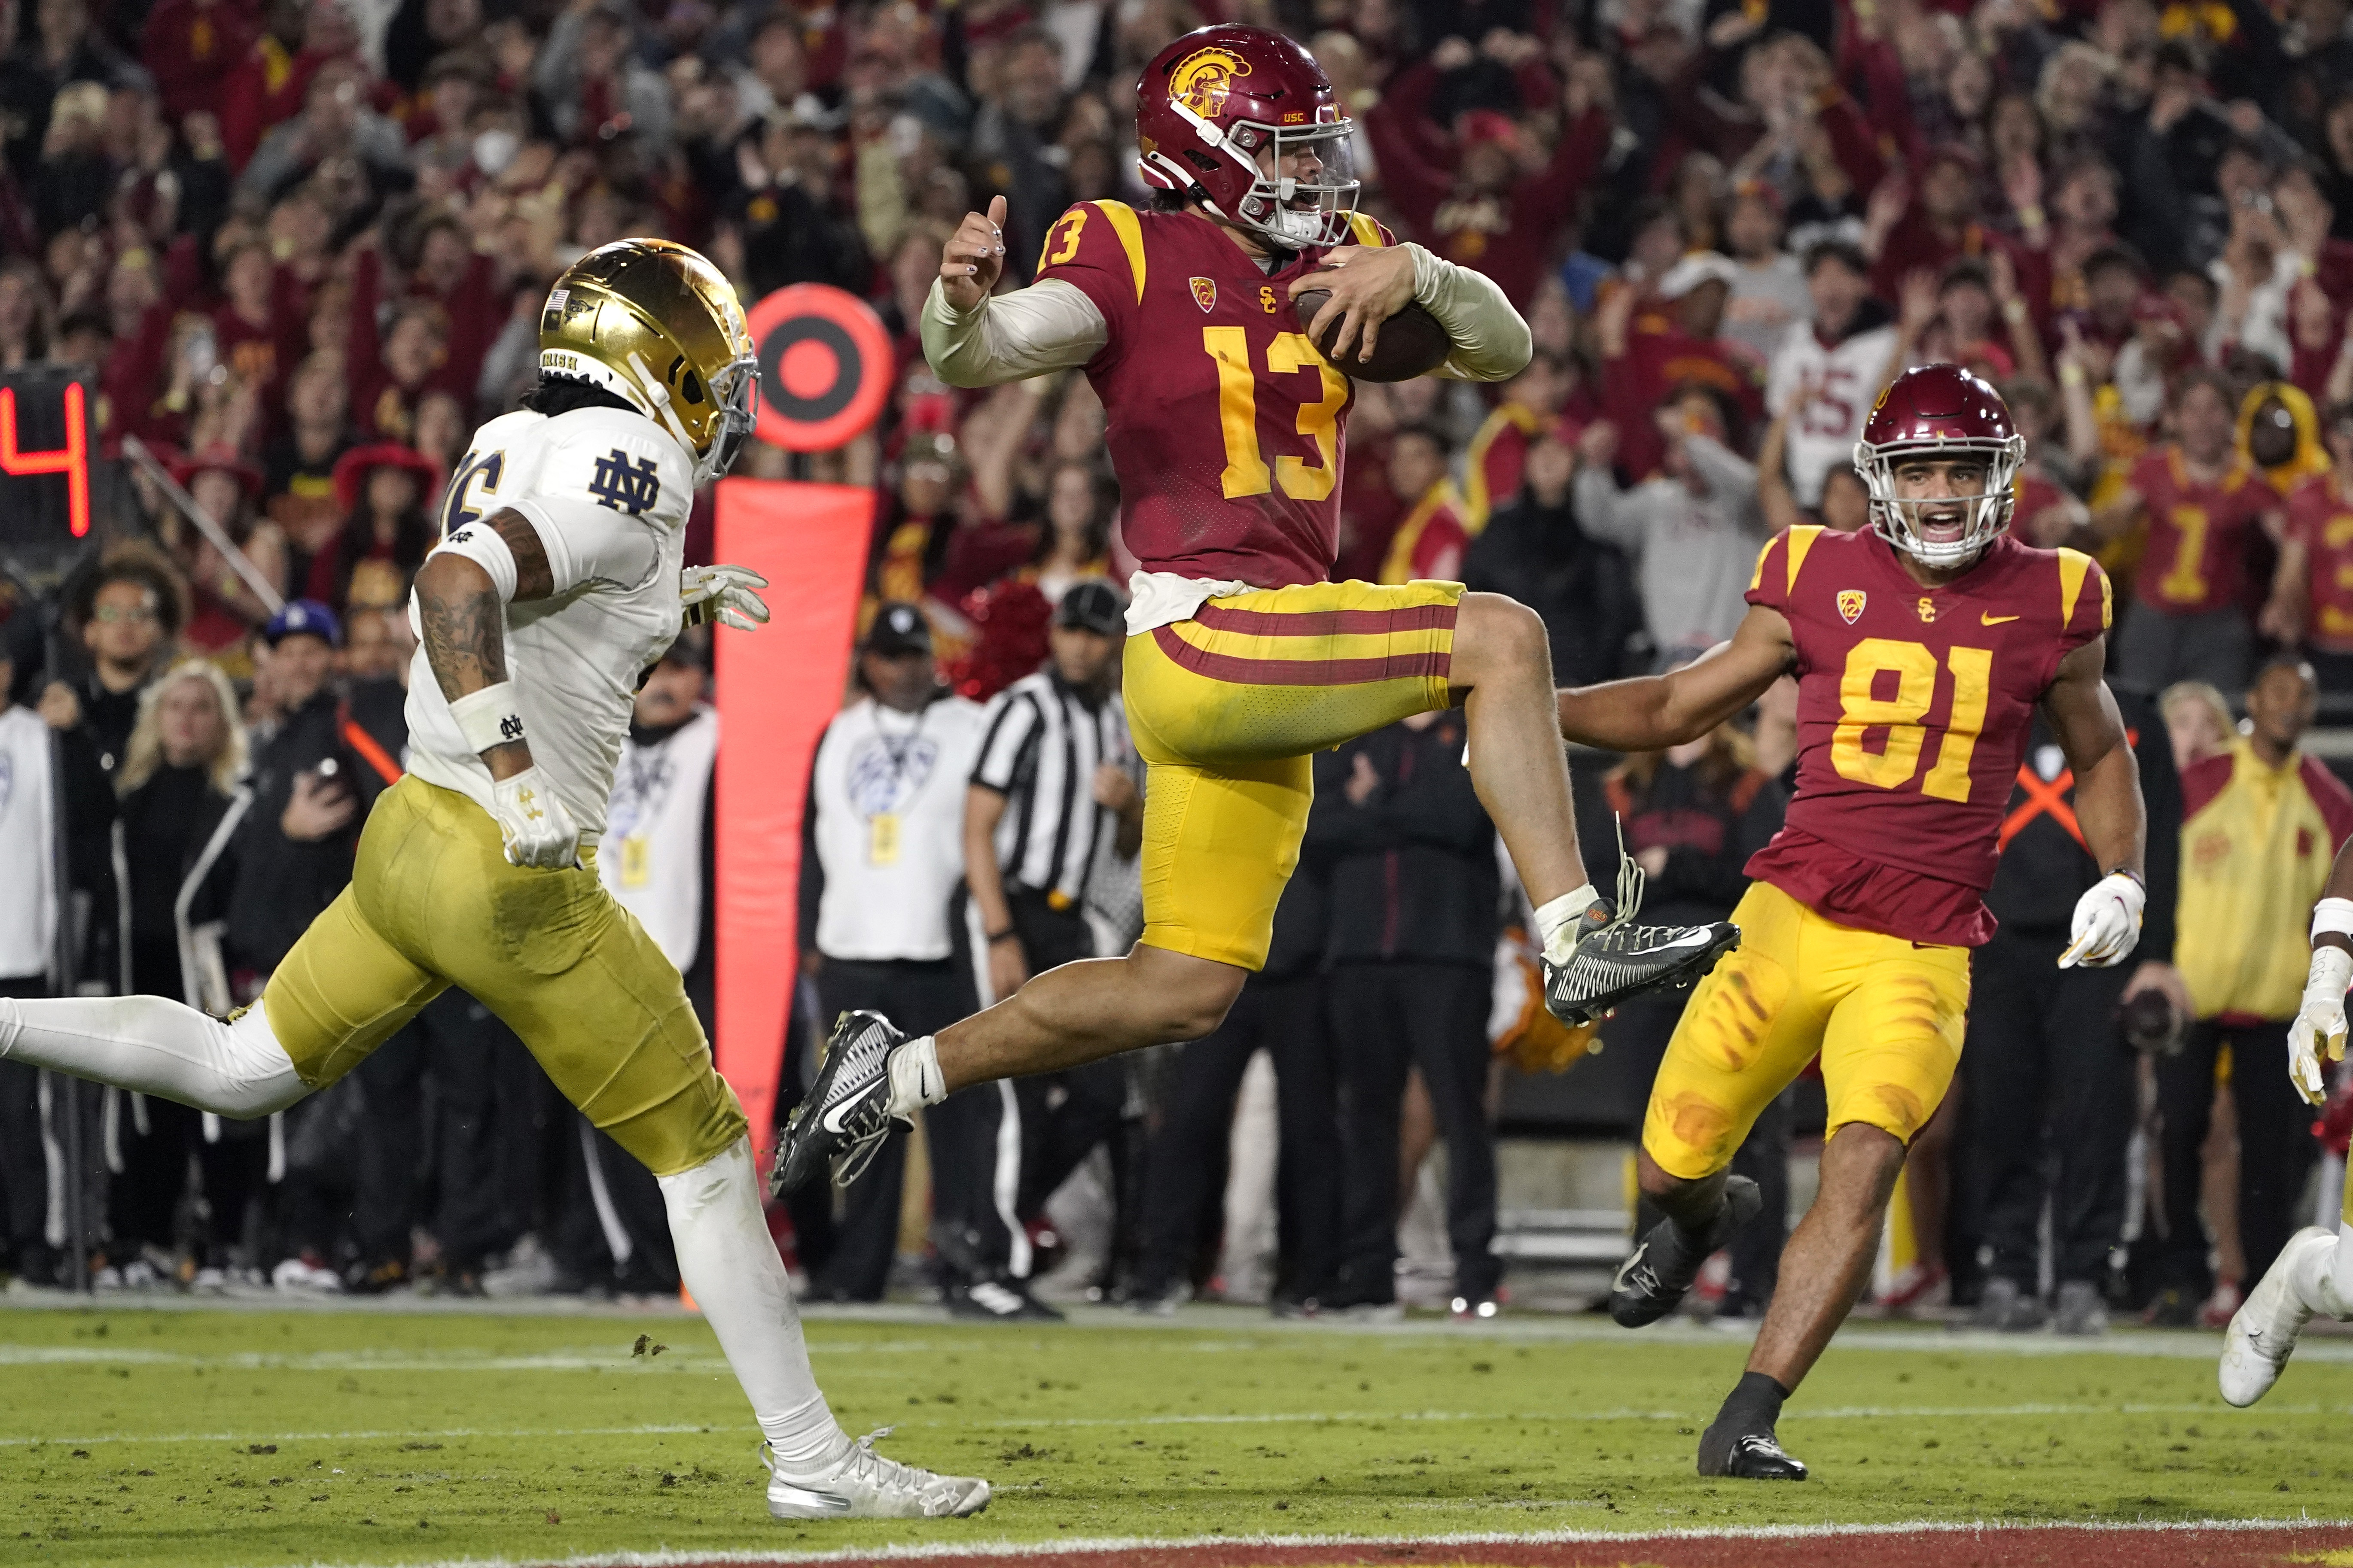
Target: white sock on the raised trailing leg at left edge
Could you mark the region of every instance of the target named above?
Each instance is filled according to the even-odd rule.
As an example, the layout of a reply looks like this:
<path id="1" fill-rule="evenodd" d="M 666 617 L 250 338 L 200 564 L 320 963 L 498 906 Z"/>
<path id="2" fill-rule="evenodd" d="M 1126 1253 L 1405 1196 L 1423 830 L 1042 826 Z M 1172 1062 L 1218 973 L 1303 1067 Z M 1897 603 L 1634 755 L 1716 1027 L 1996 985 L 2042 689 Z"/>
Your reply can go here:
<path id="1" fill-rule="evenodd" d="M 221 1023 L 167 997 L 0 997 L 0 1058 L 240 1121 L 311 1093 L 259 1001 Z"/>

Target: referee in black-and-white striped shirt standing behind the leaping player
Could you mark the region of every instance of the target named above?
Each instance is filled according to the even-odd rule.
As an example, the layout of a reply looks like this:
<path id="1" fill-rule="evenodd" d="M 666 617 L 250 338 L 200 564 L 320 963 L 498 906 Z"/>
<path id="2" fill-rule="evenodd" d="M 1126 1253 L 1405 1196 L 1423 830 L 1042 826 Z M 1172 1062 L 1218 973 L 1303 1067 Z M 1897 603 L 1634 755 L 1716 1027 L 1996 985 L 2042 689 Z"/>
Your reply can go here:
<path id="1" fill-rule="evenodd" d="M 1052 658 L 995 696 L 965 795 L 962 938 L 979 1004 L 1045 969 L 1092 959 L 1087 884 L 1104 844 L 1144 842 L 1127 712 L 1113 679 L 1125 604 L 1111 583 L 1073 583 L 1054 614 Z M 962 1316 L 1059 1316 L 1028 1295 L 1035 1211 L 1127 1103 L 1127 1067 L 1092 1063 L 1021 1081 L 976 1084 L 929 1112 L 941 1194 L 934 1244 Z M 941 1112 L 948 1112 L 946 1117 Z"/>

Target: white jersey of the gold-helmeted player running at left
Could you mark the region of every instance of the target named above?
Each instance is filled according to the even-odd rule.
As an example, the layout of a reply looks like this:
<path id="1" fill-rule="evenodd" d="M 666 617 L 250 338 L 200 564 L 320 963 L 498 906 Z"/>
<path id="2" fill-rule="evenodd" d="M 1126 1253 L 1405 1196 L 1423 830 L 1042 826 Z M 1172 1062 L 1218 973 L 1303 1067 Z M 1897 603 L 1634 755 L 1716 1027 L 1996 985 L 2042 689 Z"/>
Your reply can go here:
<path id="1" fill-rule="evenodd" d="M 678 569 L 694 463 L 671 435 L 626 409 L 501 414 L 473 433 L 449 480 L 442 536 L 504 508 L 548 552 L 555 590 L 506 607 L 506 675 L 532 762 L 581 827 L 605 835 L 631 701 L 678 637 Z M 409 625 L 419 625 L 409 595 Z M 409 771 L 489 811 L 489 769 L 449 717 L 419 628 L 409 670 Z"/>

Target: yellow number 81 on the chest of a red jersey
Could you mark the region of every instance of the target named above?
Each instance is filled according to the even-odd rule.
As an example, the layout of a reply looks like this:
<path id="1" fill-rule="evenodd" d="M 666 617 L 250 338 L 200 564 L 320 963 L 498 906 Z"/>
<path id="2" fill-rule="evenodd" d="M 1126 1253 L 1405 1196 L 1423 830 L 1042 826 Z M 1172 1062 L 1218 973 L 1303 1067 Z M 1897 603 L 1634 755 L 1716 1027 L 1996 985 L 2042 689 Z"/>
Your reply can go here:
<path id="1" fill-rule="evenodd" d="M 1993 649 L 1946 649 L 1944 668 L 1953 672 L 1953 715 L 1944 724 L 1937 764 L 1920 778 L 1920 792 L 1937 799 L 1969 799 L 1969 759 L 1986 726 L 1986 696 L 1993 686 Z M 1880 691 L 1894 677 L 1894 693 Z M 1840 778 L 1901 790 L 1920 769 L 1927 745 L 1929 708 L 1937 705 L 1937 651 L 1925 642 L 1864 637 L 1847 654 L 1838 682 L 1838 729 L 1831 731 L 1831 766 Z M 1885 731 L 1878 752 L 1866 750 L 1871 731 Z"/>

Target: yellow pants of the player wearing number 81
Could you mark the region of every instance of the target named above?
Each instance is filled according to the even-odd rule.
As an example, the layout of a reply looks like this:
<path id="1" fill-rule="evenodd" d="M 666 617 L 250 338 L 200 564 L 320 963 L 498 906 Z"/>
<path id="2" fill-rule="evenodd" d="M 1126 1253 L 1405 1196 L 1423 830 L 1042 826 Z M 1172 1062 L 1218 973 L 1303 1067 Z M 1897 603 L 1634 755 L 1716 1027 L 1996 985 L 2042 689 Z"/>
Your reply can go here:
<path id="1" fill-rule="evenodd" d="M 1659 1168 L 1697 1180 L 1729 1166 L 1817 1051 L 1831 1133 L 1866 1121 L 1911 1143 L 1960 1063 L 1969 950 L 1840 926 L 1769 882 L 1732 922 L 1741 945 L 1692 992 L 1649 1091 L 1642 1147 Z"/>

